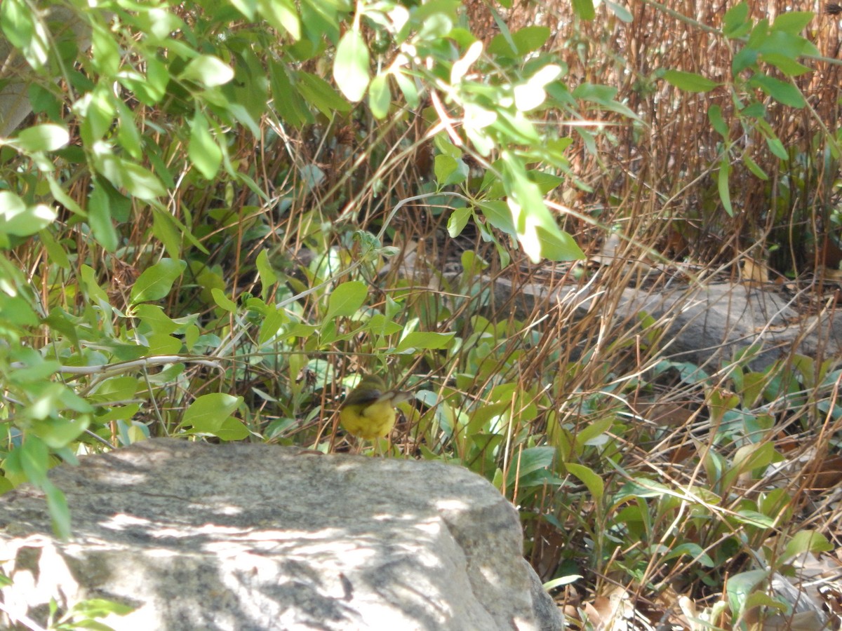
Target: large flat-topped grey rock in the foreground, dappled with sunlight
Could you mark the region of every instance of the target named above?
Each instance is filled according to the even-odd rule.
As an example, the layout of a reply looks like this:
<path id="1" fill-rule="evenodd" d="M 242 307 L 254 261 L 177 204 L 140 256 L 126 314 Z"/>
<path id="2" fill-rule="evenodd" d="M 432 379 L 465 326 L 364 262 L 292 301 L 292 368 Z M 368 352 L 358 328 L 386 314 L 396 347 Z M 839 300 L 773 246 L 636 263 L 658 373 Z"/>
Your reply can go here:
<path id="1" fill-rule="evenodd" d="M 51 480 L 69 542 L 40 491 L 0 497 L 13 616 L 106 598 L 136 607 L 115 629 L 562 628 L 514 508 L 466 469 L 156 439 Z"/>

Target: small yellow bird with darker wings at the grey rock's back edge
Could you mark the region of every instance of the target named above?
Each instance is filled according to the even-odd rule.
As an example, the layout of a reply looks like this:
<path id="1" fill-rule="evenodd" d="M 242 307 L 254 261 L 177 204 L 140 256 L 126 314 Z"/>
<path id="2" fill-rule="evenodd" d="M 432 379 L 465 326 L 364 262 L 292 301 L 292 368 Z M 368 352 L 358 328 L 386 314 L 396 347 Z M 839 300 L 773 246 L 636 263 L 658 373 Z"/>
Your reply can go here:
<path id="1" fill-rule="evenodd" d="M 386 390 L 383 379 L 375 375 L 363 377 L 340 406 L 339 422 L 346 432 L 358 438 L 385 437 L 395 427 L 395 406 L 412 396 L 409 392 Z"/>

